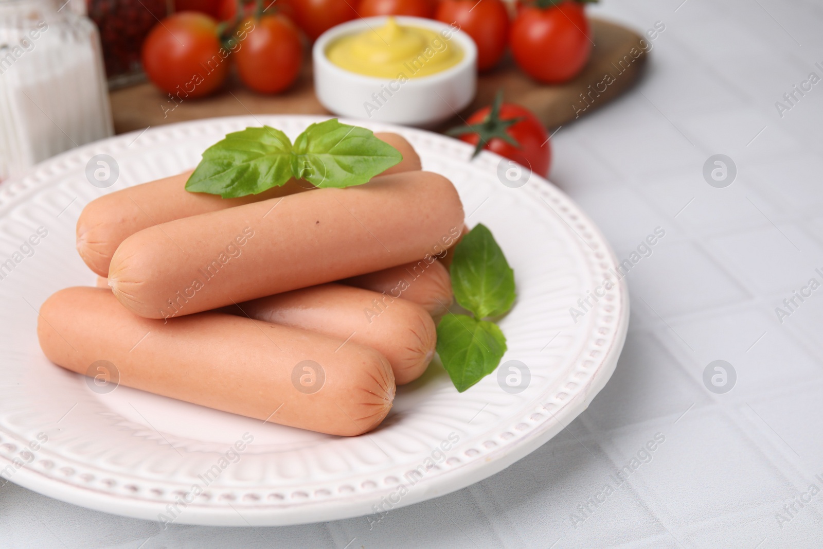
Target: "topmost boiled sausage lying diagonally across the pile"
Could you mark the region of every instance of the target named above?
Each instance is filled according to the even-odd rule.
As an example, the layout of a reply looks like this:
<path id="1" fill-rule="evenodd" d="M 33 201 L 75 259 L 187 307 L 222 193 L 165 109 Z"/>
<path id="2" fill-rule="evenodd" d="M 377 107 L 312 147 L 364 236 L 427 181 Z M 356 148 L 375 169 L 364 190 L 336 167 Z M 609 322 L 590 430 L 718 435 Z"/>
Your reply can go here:
<path id="1" fill-rule="evenodd" d="M 114 253 L 109 286 L 133 313 L 170 318 L 430 257 L 462 226 L 448 179 L 385 175 L 141 230 Z"/>

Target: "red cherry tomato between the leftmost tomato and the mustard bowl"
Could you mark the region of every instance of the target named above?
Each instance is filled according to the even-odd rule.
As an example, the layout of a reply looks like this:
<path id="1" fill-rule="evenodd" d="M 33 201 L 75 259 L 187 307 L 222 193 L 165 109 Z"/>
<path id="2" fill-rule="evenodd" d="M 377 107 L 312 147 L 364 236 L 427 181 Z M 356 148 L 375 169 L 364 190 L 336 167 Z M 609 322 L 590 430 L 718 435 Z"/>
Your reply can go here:
<path id="1" fill-rule="evenodd" d="M 238 35 L 240 47 L 234 55 L 240 80 L 260 93 L 291 86 L 303 64 L 303 44 L 294 23 L 275 14 L 257 21 L 248 17 L 237 28 L 251 29 L 245 37 Z"/>

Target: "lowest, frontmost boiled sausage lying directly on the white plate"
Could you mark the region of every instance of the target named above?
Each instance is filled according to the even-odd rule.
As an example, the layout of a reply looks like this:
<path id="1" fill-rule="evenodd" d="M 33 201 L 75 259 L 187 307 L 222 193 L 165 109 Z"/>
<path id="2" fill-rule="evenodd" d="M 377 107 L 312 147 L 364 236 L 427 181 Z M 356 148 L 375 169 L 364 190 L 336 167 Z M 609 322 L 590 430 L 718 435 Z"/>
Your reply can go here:
<path id="1" fill-rule="evenodd" d="M 49 297 L 37 335 L 67 370 L 330 435 L 374 429 L 394 397 L 391 366 L 370 347 L 231 314 L 142 319 L 102 288 Z"/>

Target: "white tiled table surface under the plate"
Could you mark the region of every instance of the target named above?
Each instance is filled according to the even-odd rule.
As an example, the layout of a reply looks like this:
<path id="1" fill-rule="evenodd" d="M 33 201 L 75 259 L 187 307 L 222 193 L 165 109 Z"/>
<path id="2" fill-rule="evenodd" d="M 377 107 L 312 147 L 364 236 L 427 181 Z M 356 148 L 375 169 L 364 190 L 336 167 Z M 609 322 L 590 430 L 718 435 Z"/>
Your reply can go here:
<path id="1" fill-rule="evenodd" d="M 629 273 L 625 351 L 574 435 L 372 530 L 348 519 L 164 531 L 8 484 L 0 547 L 823 547 L 823 289 L 783 323 L 774 313 L 809 278 L 823 282 L 823 82 L 782 119 L 774 106 L 810 72 L 823 77 L 823 2 L 591 11 L 666 30 L 637 89 L 556 134 L 551 179 L 620 258 L 655 227 L 666 235 Z M 718 153 L 737 165 L 728 188 L 702 176 Z M 718 359 L 737 371 L 729 393 L 704 387 Z M 616 478 L 658 433 L 651 460 Z M 783 505 L 812 483 L 821 493 L 790 516 Z"/>

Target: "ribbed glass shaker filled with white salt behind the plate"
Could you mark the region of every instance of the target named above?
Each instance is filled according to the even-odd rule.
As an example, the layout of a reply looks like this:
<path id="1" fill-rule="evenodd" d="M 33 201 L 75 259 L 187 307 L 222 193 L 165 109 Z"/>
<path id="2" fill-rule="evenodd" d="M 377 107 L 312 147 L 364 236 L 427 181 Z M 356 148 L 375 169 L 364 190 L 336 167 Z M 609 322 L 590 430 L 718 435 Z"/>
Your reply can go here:
<path id="1" fill-rule="evenodd" d="M 0 180 L 113 133 L 100 38 L 65 0 L 0 0 Z"/>

